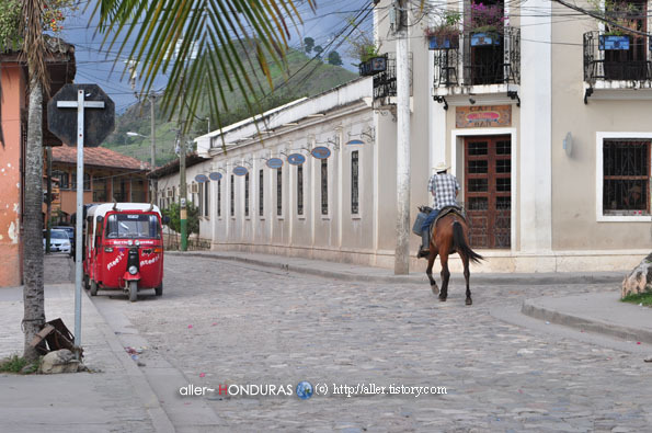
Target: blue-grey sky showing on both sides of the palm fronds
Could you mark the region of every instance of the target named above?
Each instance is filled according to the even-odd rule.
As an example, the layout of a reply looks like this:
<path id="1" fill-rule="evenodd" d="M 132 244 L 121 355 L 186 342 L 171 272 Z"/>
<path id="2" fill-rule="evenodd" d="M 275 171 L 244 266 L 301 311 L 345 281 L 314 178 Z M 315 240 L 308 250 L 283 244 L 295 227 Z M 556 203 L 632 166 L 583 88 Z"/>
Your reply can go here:
<path id="1" fill-rule="evenodd" d="M 293 31 L 289 41 L 290 46 L 300 46 L 306 36 L 312 37 L 316 45 L 327 46 L 333 39 L 333 36 L 346 26 L 347 18 L 357 14 L 369 2 L 368 0 L 317 0 L 318 9 L 316 13 L 305 4 L 299 5 L 304 24 L 298 30 Z M 111 53 L 102 49 L 102 37 L 95 35 L 96 23 L 90 21 L 90 9 L 85 12 L 80 9 L 73 16 L 68 18 L 64 24 L 62 37 L 76 46 L 76 82 L 98 83 L 115 102 L 116 112 L 121 113 L 137 102 L 135 91 L 129 86 L 128 77 L 126 75 L 123 77 L 126 56 L 123 55 L 119 61 L 115 62 L 117 49 L 113 48 Z M 371 14 L 369 14 L 362 27 L 370 32 L 371 22 Z M 351 64 L 355 60 L 346 57 L 346 49 L 347 44 L 345 42 L 340 48 L 336 48 L 343 57 L 344 66 L 354 70 Z M 156 82 L 156 88 L 164 88 L 165 82 L 165 77 L 160 77 Z M 136 90 L 138 90 L 138 86 Z"/>

